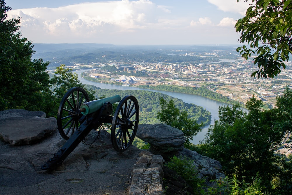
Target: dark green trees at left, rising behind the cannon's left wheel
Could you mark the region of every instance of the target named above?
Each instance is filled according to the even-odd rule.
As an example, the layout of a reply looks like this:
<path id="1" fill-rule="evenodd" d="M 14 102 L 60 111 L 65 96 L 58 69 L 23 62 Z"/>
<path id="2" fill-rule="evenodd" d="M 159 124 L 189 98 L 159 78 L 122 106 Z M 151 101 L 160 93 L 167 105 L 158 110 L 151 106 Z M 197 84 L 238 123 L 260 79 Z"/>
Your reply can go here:
<path id="1" fill-rule="evenodd" d="M 65 65 L 57 67 L 50 79 L 46 72 L 49 62 L 31 61 L 33 45 L 19 31 L 20 18 L 6 19 L 9 10 L 0 0 L 0 110 L 18 108 L 56 116 L 64 94 L 72 87 L 84 85 Z M 94 98 L 91 92 L 89 95 Z"/>

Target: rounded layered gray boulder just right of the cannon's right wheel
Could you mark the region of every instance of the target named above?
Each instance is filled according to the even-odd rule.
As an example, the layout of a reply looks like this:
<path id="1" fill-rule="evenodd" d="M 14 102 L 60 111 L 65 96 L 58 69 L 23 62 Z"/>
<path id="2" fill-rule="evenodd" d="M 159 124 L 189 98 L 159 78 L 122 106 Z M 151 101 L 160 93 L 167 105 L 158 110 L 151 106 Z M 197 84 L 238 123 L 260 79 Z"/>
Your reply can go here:
<path id="1" fill-rule="evenodd" d="M 162 153 L 183 150 L 185 137 L 182 131 L 165 124 L 139 125 L 137 137 L 151 145 L 151 152 Z"/>

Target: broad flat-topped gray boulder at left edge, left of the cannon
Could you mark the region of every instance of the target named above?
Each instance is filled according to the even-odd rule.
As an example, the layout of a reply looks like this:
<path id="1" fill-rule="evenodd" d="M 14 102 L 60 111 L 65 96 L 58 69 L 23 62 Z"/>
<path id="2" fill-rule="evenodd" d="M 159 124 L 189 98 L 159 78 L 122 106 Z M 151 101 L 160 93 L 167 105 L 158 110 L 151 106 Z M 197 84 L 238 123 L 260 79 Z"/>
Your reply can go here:
<path id="1" fill-rule="evenodd" d="M 57 129 L 57 120 L 44 112 L 6 110 L 0 112 L 0 136 L 12 146 L 34 144 Z"/>

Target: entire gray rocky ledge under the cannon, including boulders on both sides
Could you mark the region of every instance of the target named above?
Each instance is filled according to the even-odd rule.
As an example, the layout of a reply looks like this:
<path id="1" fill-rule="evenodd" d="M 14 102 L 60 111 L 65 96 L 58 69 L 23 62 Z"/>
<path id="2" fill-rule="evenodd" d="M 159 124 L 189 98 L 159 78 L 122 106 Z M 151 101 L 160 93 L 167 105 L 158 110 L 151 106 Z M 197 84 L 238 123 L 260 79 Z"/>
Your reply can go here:
<path id="1" fill-rule="evenodd" d="M 118 153 L 106 131 L 91 144 L 93 130 L 86 136 L 92 147 L 79 144 L 62 165 L 43 171 L 66 142 L 56 127 L 43 112 L 0 112 L 1 194 L 163 194 L 163 163 L 173 155 L 193 159 L 200 178 L 225 177 L 218 161 L 184 149 L 183 133 L 163 124 L 139 125 L 137 137 L 150 143 L 149 151 L 131 146 Z"/>

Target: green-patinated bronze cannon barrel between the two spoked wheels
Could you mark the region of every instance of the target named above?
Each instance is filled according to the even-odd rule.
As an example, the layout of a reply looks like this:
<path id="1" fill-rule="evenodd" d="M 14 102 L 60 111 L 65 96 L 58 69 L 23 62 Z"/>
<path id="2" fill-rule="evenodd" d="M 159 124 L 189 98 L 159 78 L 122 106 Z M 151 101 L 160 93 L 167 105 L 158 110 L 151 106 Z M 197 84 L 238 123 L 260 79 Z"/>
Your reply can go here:
<path id="1" fill-rule="evenodd" d="M 107 97 L 103 99 L 93 100 L 86 103 L 81 104 L 80 112 L 83 115 L 88 115 L 98 111 L 105 102 L 109 102 L 111 104 L 121 101 L 121 96 L 115 95 L 112 97 Z"/>

